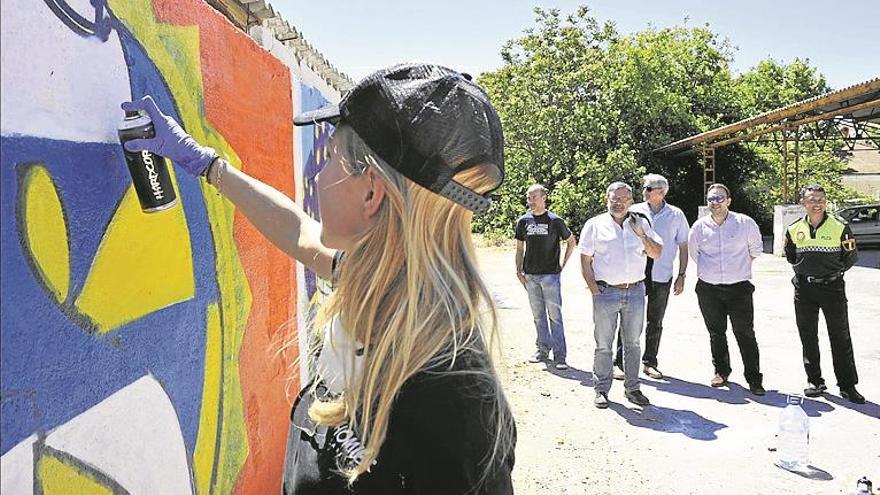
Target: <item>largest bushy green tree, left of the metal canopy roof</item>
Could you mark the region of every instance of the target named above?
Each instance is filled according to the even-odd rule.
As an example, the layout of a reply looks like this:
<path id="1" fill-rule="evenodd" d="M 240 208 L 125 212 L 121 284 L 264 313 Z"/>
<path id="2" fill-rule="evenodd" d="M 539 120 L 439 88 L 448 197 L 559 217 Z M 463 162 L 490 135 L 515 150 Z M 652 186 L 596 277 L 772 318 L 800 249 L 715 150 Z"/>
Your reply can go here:
<path id="1" fill-rule="evenodd" d="M 651 150 L 738 118 L 728 43 L 706 27 L 622 36 L 586 7 L 535 14 L 536 26 L 502 49 L 504 65 L 479 79 L 504 126 L 508 179 L 477 229 L 509 235 L 532 182 L 550 187 L 552 208 L 575 229 L 605 210 L 610 182 L 637 185 L 646 167 L 693 182 L 695 157 L 657 161 Z M 702 191 L 692 193 L 682 188 L 680 199 L 696 213 Z"/>

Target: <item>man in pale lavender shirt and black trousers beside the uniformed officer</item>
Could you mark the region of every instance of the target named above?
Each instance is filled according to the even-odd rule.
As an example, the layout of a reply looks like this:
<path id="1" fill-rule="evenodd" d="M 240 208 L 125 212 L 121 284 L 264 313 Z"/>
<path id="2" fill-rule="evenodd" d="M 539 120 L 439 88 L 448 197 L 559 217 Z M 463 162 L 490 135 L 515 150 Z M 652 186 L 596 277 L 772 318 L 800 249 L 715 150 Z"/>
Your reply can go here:
<path id="1" fill-rule="evenodd" d="M 700 218 L 688 235 L 688 251 L 697 264 L 697 301 L 709 330 L 715 376 L 710 385 L 723 387 L 730 376 L 727 319 L 743 360 L 749 390 L 766 394 L 755 340 L 752 262 L 761 255 L 763 242 L 758 224 L 748 215 L 729 210 L 730 189 L 709 186 L 706 203 L 711 215 Z"/>

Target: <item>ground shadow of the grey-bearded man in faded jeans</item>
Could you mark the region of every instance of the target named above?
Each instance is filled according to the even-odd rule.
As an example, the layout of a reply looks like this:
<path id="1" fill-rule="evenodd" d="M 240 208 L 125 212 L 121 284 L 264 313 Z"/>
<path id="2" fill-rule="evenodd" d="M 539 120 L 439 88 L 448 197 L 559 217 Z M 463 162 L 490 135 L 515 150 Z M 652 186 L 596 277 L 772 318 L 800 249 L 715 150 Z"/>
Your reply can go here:
<path id="1" fill-rule="evenodd" d="M 612 402 L 608 408 L 619 414 L 627 423 L 639 428 L 649 428 L 664 433 L 680 433 L 694 440 L 710 441 L 727 425 L 708 420 L 693 411 L 648 405 L 643 409 L 630 409 Z"/>

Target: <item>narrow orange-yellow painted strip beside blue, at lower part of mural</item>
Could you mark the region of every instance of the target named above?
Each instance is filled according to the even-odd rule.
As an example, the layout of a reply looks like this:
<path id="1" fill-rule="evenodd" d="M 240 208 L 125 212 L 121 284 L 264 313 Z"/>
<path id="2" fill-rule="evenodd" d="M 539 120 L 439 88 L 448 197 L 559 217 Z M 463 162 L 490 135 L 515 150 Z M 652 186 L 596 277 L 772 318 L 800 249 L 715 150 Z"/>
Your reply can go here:
<path id="1" fill-rule="evenodd" d="M 196 451 L 193 454 L 198 495 L 211 493 L 211 473 L 214 469 L 217 430 L 220 426 L 220 384 L 223 374 L 221 343 L 223 329 L 220 328 L 220 308 L 217 304 L 208 305 L 205 320 L 205 378 L 202 386 L 199 435 L 196 439 Z"/>

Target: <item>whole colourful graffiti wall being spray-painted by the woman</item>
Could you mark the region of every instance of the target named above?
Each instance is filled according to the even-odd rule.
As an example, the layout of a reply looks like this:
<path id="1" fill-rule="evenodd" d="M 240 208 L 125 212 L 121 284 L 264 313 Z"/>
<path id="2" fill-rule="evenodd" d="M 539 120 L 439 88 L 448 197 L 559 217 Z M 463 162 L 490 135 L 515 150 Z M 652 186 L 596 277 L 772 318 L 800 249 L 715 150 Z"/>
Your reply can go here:
<path id="1" fill-rule="evenodd" d="M 0 491 L 279 492 L 314 279 L 174 167 L 143 213 L 119 104 L 311 205 L 327 130 L 292 115 L 338 95 L 201 0 L 0 5 Z"/>

